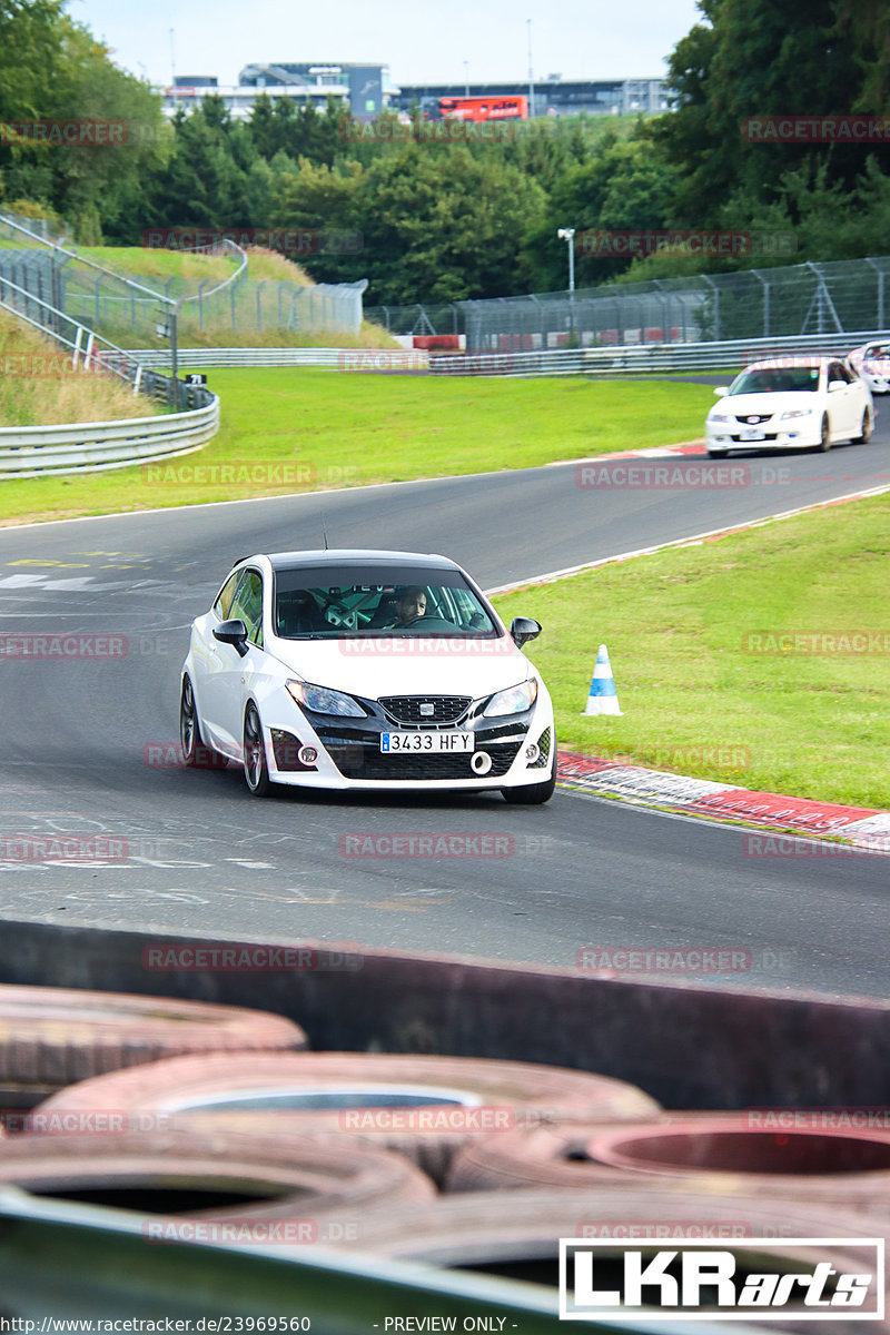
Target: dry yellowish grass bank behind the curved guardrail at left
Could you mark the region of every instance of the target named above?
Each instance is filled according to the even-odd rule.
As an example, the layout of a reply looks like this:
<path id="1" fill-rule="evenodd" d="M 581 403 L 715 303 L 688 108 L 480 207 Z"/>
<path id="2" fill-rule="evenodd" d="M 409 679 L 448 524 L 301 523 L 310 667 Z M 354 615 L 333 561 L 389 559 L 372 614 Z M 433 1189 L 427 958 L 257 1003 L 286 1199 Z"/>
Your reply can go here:
<path id="1" fill-rule="evenodd" d="M 0 312 L 0 427 L 111 422 L 155 411 L 147 398 L 107 375 L 72 371 L 71 354 L 60 344 Z"/>

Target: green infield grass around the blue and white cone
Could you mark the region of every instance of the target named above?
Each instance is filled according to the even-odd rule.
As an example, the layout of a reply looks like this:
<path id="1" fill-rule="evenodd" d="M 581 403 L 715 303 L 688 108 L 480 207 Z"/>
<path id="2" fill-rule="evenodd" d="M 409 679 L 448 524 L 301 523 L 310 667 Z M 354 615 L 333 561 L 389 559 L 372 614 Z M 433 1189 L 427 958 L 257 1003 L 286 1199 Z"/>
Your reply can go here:
<path id="1" fill-rule="evenodd" d="M 767 792 L 890 806 L 890 497 L 604 566 L 495 599 L 568 750 Z M 757 651 L 789 631 L 878 631 L 865 653 Z M 622 718 L 584 718 L 607 645 Z M 822 642 L 823 643 L 823 642 Z"/>

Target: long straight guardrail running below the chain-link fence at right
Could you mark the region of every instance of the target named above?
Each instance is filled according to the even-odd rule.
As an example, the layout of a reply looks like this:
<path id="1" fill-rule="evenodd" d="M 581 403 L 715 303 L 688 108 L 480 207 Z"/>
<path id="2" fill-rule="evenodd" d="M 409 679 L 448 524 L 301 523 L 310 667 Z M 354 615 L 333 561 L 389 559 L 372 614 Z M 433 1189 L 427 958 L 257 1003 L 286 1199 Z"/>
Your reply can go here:
<path id="1" fill-rule="evenodd" d="M 886 331 L 798 334 L 789 338 L 733 339 L 723 343 L 628 343 L 623 347 L 554 348 L 547 352 L 436 352 L 435 375 L 652 375 L 669 371 L 722 371 L 771 356 L 846 356 Z"/>

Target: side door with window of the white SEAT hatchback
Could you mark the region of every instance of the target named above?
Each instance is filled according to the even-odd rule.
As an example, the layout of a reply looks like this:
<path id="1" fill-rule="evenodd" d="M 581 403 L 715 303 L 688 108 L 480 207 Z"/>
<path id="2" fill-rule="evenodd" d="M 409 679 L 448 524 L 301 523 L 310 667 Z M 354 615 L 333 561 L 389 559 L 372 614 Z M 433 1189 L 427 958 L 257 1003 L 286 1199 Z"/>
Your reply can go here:
<path id="1" fill-rule="evenodd" d="M 244 622 L 247 651 L 240 654 L 235 645 L 213 639 L 212 670 L 205 680 L 207 714 L 201 721 L 212 746 L 228 756 L 240 756 L 248 682 L 263 659 L 263 577 L 259 570 L 248 566 L 240 573 L 228 617 L 220 619 Z"/>

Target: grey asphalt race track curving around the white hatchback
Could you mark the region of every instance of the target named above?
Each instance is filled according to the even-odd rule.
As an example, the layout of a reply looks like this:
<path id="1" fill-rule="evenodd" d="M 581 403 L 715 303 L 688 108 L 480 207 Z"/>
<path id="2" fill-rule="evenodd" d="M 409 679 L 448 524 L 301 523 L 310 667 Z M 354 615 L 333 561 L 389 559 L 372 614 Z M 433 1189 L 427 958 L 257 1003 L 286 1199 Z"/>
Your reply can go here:
<path id="1" fill-rule="evenodd" d="M 238 557 L 322 546 L 324 527 L 331 546 L 443 551 L 492 587 L 887 486 L 890 430 L 827 455 L 636 463 L 695 485 L 628 486 L 616 459 L 594 487 L 567 465 L 0 529 L 0 630 L 128 643 L 123 658 L 0 663 L 0 837 L 65 836 L 93 852 L 43 861 L 7 842 L 0 913 L 567 967 L 590 945 L 723 948 L 749 951 L 750 965 L 706 981 L 886 996 L 879 856 L 746 857 L 738 828 L 564 790 L 530 809 L 496 794 L 259 802 L 234 766 L 149 764 L 176 741 L 188 625 Z M 727 465 L 746 465 L 739 485 L 699 485 Z M 579 710 L 603 629 L 591 626 L 579 665 Z M 370 832 L 495 834 L 500 856 L 350 856 L 342 837 Z"/>

